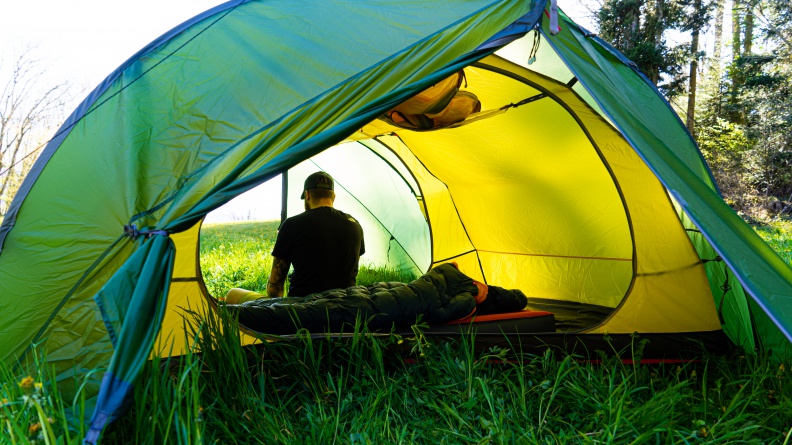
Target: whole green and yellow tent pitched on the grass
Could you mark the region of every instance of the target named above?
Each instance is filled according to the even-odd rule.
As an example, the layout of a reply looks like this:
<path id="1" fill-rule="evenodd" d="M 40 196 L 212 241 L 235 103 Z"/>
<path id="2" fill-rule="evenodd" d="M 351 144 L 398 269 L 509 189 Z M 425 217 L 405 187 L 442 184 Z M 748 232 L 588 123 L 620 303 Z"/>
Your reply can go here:
<path id="1" fill-rule="evenodd" d="M 455 261 L 610 308 L 584 339 L 725 332 L 788 352 L 792 270 L 635 66 L 563 14 L 554 35 L 545 8 L 234 0 L 152 42 L 69 117 L 0 226 L 0 357 L 43 345 L 62 387 L 98 392 L 95 440 L 155 342 L 183 350 L 179 308 L 213 299 L 204 216 L 315 167 L 368 215 L 371 261 Z M 432 131 L 381 119 L 462 69 L 483 111 Z"/>

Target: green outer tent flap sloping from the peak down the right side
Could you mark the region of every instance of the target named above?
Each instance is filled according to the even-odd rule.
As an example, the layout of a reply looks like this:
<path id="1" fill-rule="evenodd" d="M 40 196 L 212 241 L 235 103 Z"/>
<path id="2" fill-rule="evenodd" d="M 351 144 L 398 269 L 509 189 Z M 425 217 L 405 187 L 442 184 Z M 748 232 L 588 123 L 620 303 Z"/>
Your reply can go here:
<path id="1" fill-rule="evenodd" d="M 547 39 L 792 341 L 792 268 L 723 202 L 691 138 L 648 82 L 623 65 L 607 44 L 587 39 L 566 18 L 564 23 L 570 32 L 546 34 Z"/>

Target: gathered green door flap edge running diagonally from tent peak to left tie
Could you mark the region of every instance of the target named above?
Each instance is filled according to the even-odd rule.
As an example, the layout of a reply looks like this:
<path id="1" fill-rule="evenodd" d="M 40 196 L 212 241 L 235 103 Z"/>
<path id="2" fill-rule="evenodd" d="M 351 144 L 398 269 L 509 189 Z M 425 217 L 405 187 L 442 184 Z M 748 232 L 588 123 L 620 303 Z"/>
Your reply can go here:
<path id="1" fill-rule="evenodd" d="M 182 230 L 252 185 L 340 142 L 405 98 L 484 57 L 489 50 L 476 49 L 484 36 L 502 23 L 525 14 L 524 8 L 530 4 L 496 2 L 481 6 L 484 8 L 385 60 L 378 60 L 376 65 L 345 78 L 332 90 L 315 96 L 278 121 L 252 133 L 244 141 L 246 149 L 235 150 L 213 165 L 226 173 L 214 176 L 206 172 L 195 182 L 185 185 L 179 199 L 169 205 L 162 221 L 168 221 L 168 227 L 174 230 Z M 537 11 L 541 9 L 532 13 L 536 17 Z M 403 27 L 404 24 L 398 24 L 399 32 Z M 348 54 L 346 47 L 334 49 L 341 53 L 338 58 Z M 445 68 L 440 70 L 441 67 Z M 296 123 L 299 123 L 299 131 L 295 131 Z"/>

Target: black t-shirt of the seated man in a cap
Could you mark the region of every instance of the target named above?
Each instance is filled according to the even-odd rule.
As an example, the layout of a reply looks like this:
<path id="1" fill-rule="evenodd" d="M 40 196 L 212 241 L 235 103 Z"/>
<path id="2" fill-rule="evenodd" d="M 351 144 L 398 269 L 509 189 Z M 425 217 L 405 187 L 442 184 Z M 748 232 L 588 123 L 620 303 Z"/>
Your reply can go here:
<path id="1" fill-rule="evenodd" d="M 290 297 L 355 285 L 365 252 L 363 229 L 355 218 L 332 207 L 317 207 L 281 225 L 272 255 L 294 265 Z"/>

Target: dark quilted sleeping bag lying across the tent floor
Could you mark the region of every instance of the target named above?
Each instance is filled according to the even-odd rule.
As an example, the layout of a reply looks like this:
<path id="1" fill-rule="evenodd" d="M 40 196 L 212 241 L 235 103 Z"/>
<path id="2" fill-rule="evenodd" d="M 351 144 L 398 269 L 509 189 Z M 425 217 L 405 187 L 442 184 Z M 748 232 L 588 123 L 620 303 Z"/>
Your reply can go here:
<path id="1" fill-rule="evenodd" d="M 489 295 L 482 298 L 483 294 Z M 482 311 L 518 311 L 527 299 L 519 290 L 476 284 L 453 264 L 442 264 L 409 283 L 331 289 L 305 297 L 262 298 L 226 305 L 244 327 L 268 334 L 349 332 L 359 318 L 370 331 L 408 327 L 420 320 L 441 324 L 471 315 L 477 299 Z"/>

